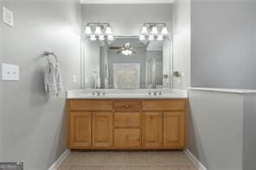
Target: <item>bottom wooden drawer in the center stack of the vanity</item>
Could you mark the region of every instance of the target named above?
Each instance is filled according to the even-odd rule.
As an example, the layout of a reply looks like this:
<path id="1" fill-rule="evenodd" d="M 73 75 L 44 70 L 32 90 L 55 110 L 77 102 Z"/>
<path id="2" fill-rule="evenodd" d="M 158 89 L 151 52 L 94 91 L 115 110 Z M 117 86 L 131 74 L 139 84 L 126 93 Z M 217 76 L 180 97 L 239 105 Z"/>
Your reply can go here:
<path id="1" fill-rule="evenodd" d="M 140 129 L 115 129 L 114 139 L 116 147 L 139 147 Z"/>

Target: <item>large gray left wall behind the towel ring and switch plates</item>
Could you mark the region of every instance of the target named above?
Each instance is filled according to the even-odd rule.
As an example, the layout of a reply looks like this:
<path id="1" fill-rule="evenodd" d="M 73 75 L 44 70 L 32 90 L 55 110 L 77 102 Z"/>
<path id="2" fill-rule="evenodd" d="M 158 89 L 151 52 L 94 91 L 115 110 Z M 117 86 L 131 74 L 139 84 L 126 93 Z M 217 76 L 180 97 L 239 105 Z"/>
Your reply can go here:
<path id="1" fill-rule="evenodd" d="M 58 55 L 65 90 L 80 88 L 80 5 L 25 3 L 3 5 L 14 12 L 3 25 L 1 62 L 20 66 L 21 80 L 1 81 L 1 160 L 24 161 L 24 169 L 46 170 L 66 149 L 65 92 L 48 97 L 43 86 L 45 50 Z M 1 50 L 2 51 L 2 50 Z"/>

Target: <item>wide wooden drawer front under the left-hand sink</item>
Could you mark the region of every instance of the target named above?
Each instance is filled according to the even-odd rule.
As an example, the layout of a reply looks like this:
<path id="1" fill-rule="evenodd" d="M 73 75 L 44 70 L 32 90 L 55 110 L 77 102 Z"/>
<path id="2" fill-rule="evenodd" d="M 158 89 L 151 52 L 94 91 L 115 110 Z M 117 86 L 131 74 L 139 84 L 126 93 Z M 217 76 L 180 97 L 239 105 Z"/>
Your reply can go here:
<path id="1" fill-rule="evenodd" d="M 112 110 L 111 100 L 69 100 L 70 110 Z"/>

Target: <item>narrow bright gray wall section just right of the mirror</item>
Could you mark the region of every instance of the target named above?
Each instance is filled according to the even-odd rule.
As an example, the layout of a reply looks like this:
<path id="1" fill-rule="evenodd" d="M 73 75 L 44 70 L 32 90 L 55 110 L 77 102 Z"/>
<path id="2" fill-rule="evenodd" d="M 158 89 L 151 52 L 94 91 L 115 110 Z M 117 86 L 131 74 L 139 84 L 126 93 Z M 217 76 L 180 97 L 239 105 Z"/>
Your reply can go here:
<path id="1" fill-rule="evenodd" d="M 191 82 L 190 0 L 176 0 L 172 10 L 173 70 L 184 73 L 180 79 L 173 79 L 173 87 L 187 90 Z"/>

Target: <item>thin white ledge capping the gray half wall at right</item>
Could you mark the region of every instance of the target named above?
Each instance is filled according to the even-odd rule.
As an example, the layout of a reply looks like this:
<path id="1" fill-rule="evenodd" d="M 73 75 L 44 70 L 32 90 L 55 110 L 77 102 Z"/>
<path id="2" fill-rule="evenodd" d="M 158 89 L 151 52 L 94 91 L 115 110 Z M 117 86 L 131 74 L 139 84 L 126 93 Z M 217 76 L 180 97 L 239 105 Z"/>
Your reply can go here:
<path id="1" fill-rule="evenodd" d="M 256 94 L 256 90 L 250 90 L 250 89 L 225 89 L 225 88 L 190 87 L 189 90 L 195 90 L 195 91 L 219 91 L 219 92 L 230 92 L 230 93 L 239 93 L 239 94 Z"/>

